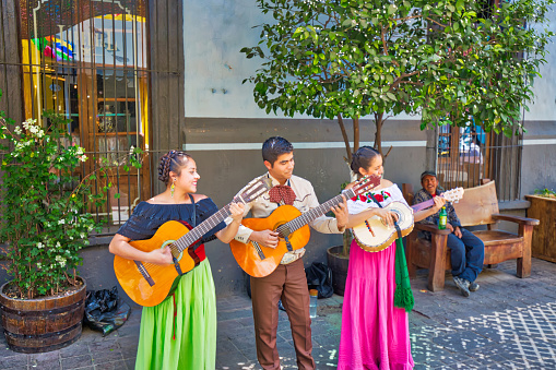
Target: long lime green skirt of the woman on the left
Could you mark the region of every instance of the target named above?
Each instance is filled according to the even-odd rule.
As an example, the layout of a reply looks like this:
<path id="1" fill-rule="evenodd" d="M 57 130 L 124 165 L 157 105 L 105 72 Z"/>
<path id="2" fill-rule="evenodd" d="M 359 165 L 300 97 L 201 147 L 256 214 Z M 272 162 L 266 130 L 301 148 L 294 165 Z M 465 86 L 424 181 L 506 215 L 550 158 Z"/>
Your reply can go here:
<path id="1" fill-rule="evenodd" d="M 181 276 L 174 294 L 175 302 L 170 296 L 143 307 L 135 370 L 215 369 L 216 295 L 209 260 Z"/>

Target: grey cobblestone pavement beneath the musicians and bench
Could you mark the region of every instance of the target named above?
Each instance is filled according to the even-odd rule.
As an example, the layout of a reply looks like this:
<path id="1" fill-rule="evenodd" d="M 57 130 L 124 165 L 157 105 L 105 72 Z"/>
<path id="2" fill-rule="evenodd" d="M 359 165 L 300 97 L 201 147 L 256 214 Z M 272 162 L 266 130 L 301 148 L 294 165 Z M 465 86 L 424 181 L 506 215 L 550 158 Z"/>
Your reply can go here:
<path id="1" fill-rule="evenodd" d="M 514 276 L 514 262 L 485 270 L 481 289 L 462 297 L 447 275 L 441 293 L 426 290 L 426 272 L 412 281 L 415 308 L 410 332 L 415 369 L 556 369 L 556 264 L 533 259 L 530 278 Z M 335 369 L 343 298 L 319 300 L 312 324 L 317 369 Z M 217 369 L 260 369 L 250 300 L 218 298 Z M 24 355 L 0 338 L 0 369 L 133 369 L 140 309 L 103 337 L 84 329 L 60 350 Z M 295 369 L 289 322 L 280 312 L 277 347 L 284 369 Z"/>

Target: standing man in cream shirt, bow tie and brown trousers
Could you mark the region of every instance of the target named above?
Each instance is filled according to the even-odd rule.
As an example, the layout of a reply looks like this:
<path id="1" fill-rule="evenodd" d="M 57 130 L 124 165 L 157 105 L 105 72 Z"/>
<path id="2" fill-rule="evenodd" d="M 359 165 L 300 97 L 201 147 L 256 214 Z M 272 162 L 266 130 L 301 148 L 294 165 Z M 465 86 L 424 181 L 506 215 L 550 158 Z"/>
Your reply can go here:
<path id="1" fill-rule="evenodd" d="M 301 213 L 319 206 L 311 183 L 293 175 L 294 147 L 287 140 L 280 136 L 268 139 L 262 145 L 262 157 L 269 170 L 264 176 L 272 180 L 274 188 L 256 201 L 247 203 L 245 215 L 251 211 L 253 217 L 264 218 L 283 204 L 292 204 Z M 309 225 L 320 232 L 342 234 L 348 217 L 345 200 L 331 211 L 335 218 L 320 216 Z M 241 226 L 235 239 L 244 243 L 255 241 L 264 247 L 276 248 L 279 234 L 270 229 L 255 231 Z M 311 355 L 309 290 L 301 260 L 304 253 L 305 248 L 287 252 L 270 275 L 251 277 L 257 358 L 265 370 L 280 369 L 276 348 L 280 299 L 289 318 L 297 367 L 315 369 Z"/>

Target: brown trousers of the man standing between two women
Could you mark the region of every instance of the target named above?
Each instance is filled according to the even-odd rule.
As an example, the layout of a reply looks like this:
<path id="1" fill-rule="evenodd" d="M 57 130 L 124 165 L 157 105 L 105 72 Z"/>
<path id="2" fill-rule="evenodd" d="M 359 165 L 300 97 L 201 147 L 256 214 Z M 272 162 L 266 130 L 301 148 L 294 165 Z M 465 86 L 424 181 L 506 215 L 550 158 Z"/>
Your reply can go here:
<path id="1" fill-rule="evenodd" d="M 276 348 L 279 324 L 277 302 L 286 309 L 292 327 L 297 367 L 315 369 L 311 356 L 311 319 L 309 318 L 309 290 L 301 259 L 281 264 L 264 277 L 251 277 L 255 337 L 257 358 L 264 370 L 279 370 L 280 357 Z"/>

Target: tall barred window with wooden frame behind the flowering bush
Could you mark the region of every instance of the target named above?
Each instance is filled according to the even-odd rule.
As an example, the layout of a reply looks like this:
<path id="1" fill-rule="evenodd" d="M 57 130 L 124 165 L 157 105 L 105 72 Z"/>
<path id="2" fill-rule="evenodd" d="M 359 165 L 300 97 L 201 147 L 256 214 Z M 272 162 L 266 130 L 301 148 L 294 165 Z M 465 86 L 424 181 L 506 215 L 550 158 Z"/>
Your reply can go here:
<path id="1" fill-rule="evenodd" d="M 0 109 L 20 122 L 40 120 L 46 109 L 70 119 L 72 141 L 96 159 L 82 176 L 106 166 L 99 158 L 110 166 L 131 146 L 145 152 L 141 170 L 113 166 L 114 187 L 97 210 L 108 234 L 158 190 L 151 169 L 159 153 L 181 147 L 175 134 L 185 124 L 181 7 L 179 0 L 0 2 Z M 105 184 L 99 179 L 97 191 Z"/>

